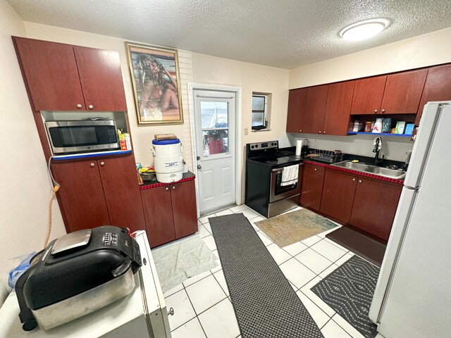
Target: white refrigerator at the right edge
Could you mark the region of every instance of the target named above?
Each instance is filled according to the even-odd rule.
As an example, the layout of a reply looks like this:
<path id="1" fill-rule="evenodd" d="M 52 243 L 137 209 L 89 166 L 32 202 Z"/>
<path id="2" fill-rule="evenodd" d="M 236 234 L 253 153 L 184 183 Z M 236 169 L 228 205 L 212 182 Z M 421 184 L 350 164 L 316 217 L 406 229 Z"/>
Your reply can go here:
<path id="1" fill-rule="evenodd" d="M 451 101 L 428 102 L 369 318 L 385 338 L 451 337 Z"/>

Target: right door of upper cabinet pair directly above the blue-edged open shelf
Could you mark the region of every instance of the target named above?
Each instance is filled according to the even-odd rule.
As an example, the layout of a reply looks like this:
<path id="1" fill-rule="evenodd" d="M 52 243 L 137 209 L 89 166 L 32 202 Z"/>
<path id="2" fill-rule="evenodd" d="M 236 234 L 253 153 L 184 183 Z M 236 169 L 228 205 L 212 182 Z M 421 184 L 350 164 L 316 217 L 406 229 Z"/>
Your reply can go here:
<path id="1" fill-rule="evenodd" d="M 388 75 L 381 113 L 416 114 L 427 73 L 419 69 Z"/>

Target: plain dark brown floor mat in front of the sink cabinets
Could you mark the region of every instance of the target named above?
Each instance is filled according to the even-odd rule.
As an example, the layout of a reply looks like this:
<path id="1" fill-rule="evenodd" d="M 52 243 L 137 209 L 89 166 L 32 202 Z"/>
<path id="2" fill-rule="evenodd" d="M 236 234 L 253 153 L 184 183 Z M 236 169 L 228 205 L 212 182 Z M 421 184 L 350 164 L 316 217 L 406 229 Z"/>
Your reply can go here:
<path id="1" fill-rule="evenodd" d="M 326 234 L 326 237 L 381 268 L 387 244 L 378 242 L 350 227 L 340 227 Z"/>

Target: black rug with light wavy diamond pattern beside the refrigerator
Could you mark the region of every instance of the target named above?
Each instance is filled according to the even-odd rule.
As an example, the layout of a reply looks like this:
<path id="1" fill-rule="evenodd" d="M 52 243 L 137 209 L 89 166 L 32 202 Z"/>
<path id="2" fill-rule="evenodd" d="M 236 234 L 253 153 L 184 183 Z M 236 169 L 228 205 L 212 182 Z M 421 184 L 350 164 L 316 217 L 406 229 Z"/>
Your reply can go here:
<path id="1" fill-rule="evenodd" d="M 352 256 L 312 287 L 311 291 L 364 337 L 373 338 L 377 334 L 377 327 L 369 319 L 368 313 L 378 275 L 378 267 L 359 256 Z"/>

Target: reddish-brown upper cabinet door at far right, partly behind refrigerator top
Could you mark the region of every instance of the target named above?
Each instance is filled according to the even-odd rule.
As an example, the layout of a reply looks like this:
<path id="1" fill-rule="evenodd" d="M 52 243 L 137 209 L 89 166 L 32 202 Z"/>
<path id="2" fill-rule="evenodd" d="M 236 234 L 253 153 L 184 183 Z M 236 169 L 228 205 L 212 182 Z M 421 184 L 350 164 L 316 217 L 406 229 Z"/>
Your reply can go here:
<path id="1" fill-rule="evenodd" d="M 425 104 L 431 101 L 449 100 L 451 100 L 451 65 L 440 65 L 429 68 L 416 114 L 415 124 L 419 124 Z"/>

